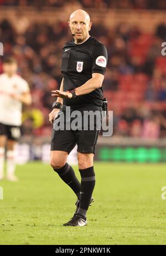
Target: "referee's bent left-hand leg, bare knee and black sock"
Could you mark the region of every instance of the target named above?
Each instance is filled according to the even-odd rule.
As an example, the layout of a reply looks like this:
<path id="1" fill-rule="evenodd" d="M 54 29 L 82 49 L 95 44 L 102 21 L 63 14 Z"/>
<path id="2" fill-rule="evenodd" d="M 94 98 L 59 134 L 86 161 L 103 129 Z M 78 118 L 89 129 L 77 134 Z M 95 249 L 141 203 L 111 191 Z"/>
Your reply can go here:
<path id="1" fill-rule="evenodd" d="M 66 151 L 51 151 L 50 165 L 59 177 L 74 191 L 77 198 L 80 199 L 80 182 L 75 176 L 73 168 L 66 162 L 68 152 Z"/>

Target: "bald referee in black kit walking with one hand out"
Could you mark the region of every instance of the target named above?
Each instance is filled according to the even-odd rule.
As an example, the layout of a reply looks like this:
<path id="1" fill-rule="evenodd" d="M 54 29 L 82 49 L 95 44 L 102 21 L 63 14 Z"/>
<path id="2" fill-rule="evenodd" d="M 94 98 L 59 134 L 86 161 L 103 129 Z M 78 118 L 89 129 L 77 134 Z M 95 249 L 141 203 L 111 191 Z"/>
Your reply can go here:
<path id="1" fill-rule="evenodd" d="M 49 121 L 54 125 L 62 113 L 67 114 L 69 106 L 70 114 L 74 110 L 80 111 L 82 115 L 85 111 L 99 111 L 100 119 L 102 118 L 102 82 L 107 63 L 106 47 L 89 35 L 92 22 L 85 11 L 74 11 L 68 23 L 74 40 L 64 45 L 61 64 L 63 80 L 60 90 L 52 91 L 52 96 L 58 97 L 53 105 L 53 111 L 49 114 Z M 96 124 L 94 127 L 96 128 Z M 86 212 L 93 200 L 92 192 L 95 187 L 93 160 L 98 133 L 97 129 L 53 129 L 51 167 L 77 196 L 76 212 L 64 226 L 87 224 Z M 76 144 L 81 183 L 66 162 Z"/>

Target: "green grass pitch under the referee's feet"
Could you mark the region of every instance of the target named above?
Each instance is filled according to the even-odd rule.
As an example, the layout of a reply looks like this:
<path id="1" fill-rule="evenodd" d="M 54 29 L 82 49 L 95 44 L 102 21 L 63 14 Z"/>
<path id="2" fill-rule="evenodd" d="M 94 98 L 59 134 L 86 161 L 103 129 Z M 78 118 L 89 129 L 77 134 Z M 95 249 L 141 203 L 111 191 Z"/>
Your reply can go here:
<path id="1" fill-rule="evenodd" d="M 0 244 L 166 244 L 165 165 L 96 162 L 95 171 L 88 226 L 63 227 L 75 194 L 49 165 L 17 166 L 18 183 L 0 182 Z"/>

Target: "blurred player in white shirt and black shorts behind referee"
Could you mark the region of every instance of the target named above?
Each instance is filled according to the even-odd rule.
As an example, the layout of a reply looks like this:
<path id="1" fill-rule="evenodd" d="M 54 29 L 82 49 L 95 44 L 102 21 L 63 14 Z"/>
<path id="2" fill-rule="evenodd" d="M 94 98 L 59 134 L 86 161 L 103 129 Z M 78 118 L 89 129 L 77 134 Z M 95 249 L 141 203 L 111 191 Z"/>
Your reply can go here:
<path id="1" fill-rule="evenodd" d="M 14 175 L 14 146 L 20 136 L 22 103 L 32 103 L 28 83 L 17 75 L 17 68 L 17 61 L 7 58 L 3 62 L 4 73 L 0 75 L 0 180 L 4 178 L 5 148 L 7 179 L 18 180 Z"/>

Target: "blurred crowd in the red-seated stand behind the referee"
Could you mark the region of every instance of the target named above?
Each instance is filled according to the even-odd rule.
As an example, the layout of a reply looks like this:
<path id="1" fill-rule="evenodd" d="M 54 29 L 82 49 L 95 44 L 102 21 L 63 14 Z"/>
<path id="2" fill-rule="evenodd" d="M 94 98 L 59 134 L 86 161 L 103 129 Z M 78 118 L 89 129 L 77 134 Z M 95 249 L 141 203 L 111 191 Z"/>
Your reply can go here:
<path id="1" fill-rule="evenodd" d="M 37 2 L 55 7 L 64 3 L 63 0 L 0 0 L 1 4 L 25 6 Z M 150 0 L 93 2 L 119 8 L 124 4 L 133 8 L 149 8 L 149 3 L 153 3 L 151 8 L 160 8 L 165 3 Z M 86 7 L 92 1 L 82 0 L 80 3 Z M 33 97 L 32 106 L 23 109 L 22 132 L 50 136 L 52 127 L 48 114 L 55 100 L 51 98 L 51 90 L 59 89 L 62 79 L 61 52 L 63 45 L 72 37 L 66 21 L 58 21 L 54 25 L 26 23 L 23 28 L 18 32 L 7 19 L 0 24 L 4 57 L 12 55 L 17 59 L 18 73 L 28 81 Z M 158 24 L 153 34 L 144 34 L 135 25 L 125 22 L 113 29 L 98 23 L 93 24 L 90 34 L 105 44 L 108 51 L 103 90 L 108 99 L 108 109 L 113 110 L 113 135 L 153 139 L 165 137 L 166 57 L 161 55 L 161 45 L 166 42 L 166 25 Z"/>

